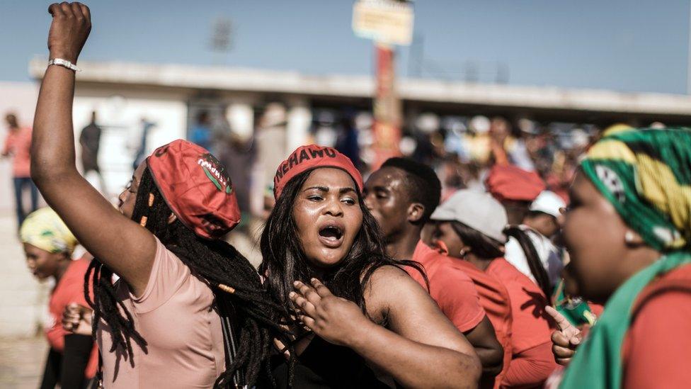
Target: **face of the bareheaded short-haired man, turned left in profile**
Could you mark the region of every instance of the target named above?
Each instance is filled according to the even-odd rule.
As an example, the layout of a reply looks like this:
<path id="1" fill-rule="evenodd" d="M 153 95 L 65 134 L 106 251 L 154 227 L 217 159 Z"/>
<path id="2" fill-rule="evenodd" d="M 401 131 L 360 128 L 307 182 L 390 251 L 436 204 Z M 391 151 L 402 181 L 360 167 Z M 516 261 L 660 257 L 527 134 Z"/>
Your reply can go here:
<path id="1" fill-rule="evenodd" d="M 395 167 L 384 167 L 372 173 L 365 183 L 365 205 L 375 217 L 382 233 L 390 240 L 408 223 L 410 196 L 405 173 Z"/>

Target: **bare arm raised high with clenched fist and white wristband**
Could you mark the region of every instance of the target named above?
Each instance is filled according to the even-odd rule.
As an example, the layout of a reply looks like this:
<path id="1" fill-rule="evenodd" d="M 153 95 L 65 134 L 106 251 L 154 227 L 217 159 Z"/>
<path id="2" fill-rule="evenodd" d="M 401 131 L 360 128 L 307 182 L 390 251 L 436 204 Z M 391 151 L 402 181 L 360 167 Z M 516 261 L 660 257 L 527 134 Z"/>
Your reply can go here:
<path id="1" fill-rule="evenodd" d="M 91 30 L 91 14 L 79 3 L 52 4 L 50 58 L 76 63 Z M 31 178 L 88 252 L 139 294 L 151 273 L 154 236 L 118 212 L 84 177 L 74 161 L 74 72 L 49 66 L 41 83 L 33 124 Z"/>

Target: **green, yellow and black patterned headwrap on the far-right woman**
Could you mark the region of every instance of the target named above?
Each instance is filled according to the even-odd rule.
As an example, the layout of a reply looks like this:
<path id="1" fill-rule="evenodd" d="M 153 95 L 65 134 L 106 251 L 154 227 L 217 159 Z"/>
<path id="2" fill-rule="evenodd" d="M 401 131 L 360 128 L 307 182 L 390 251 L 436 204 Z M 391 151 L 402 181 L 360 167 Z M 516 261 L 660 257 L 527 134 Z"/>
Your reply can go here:
<path id="1" fill-rule="evenodd" d="M 666 252 L 691 245 L 690 129 L 612 129 L 581 166 L 651 247 Z"/>

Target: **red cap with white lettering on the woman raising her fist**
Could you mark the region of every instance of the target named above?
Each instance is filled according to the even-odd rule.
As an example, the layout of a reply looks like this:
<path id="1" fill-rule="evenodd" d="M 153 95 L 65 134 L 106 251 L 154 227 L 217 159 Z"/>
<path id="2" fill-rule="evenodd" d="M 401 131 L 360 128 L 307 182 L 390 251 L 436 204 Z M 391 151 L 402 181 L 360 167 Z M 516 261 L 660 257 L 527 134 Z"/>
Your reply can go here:
<path id="1" fill-rule="evenodd" d="M 173 140 L 156 149 L 147 163 L 173 213 L 199 237 L 217 239 L 240 222 L 226 168 L 204 147 Z"/>

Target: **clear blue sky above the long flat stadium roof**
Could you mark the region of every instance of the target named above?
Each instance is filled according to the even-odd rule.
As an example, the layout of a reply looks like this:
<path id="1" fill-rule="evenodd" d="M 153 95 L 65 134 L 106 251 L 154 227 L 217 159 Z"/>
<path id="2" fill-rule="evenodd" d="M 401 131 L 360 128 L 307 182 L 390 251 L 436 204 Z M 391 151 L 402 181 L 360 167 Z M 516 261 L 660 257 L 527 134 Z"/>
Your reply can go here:
<path id="1" fill-rule="evenodd" d="M 50 1 L 2 0 L 0 80 L 27 81 L 47 55 Z M 95 0 L 84 60 L 226 64 L 308 74 L 371 74 L 372 43 L 350 28 L 352 0 Z M 418 0 L 423 77 L 462 77 L 479 64 L 492 81 L 618 91 L 686 92 L 689 0 Z M 210 50 L 212 23 L 230 18 L 232 50 Z M 419 46 L 418 46 L 419 47 Z M 398 50 L 399 74 L 410 70 Z M 432 72 L 441 69 L 442 72 Z"/>

